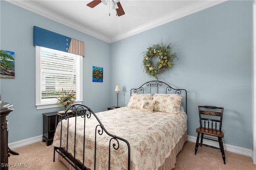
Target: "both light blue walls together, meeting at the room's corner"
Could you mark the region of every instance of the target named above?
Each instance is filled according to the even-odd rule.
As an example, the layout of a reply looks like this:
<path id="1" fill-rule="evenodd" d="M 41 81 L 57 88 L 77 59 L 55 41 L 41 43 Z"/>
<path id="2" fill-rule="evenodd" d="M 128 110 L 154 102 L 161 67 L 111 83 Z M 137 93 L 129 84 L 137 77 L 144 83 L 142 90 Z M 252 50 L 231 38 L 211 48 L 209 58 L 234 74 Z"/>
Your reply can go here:
<path id="1" fill-rule="evenodd" d="M 126 106 L 130 88 L 153 80 L 142 69 L 148 45 L 172 43 L 175 66 L 160 77 L 188 91 L 188 135 L 196 137 L 198 105 L 224 107 L 224 143 L 253 149 L 252 4 L 228 1 L 112 44 L 1 1 L 1 49 L 15 52 L 15 78 L 1 78 L 1 96 L 11 102 L 9 143 L 42 135 L 42 113 L 35 107 L 34 25 L 85 42 L 84 103 L 95 112 Z M 99 49 L 96 49 L 99 47 Z M 104 82 L 92 82 L 92 66 L 104 67 Z"/>

